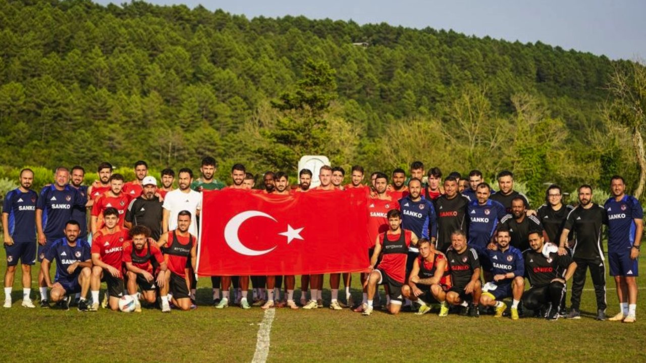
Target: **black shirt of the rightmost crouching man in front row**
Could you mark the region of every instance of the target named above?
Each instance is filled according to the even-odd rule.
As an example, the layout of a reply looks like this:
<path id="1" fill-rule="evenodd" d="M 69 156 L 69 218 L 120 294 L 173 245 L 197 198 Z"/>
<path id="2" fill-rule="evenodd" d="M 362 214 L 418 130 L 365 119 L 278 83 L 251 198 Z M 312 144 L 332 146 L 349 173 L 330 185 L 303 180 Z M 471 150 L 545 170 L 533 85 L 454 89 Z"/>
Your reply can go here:
<path id="1" fill-rule="evenodd" d="M 523 252 L 523 258 L 525 258 L 525 277 L 532 287 L 549 285 L 554 278 L 563 278 L 563 273 L 572 263 L 572 257 L 569 254 L 559 256 L 558 253 L 552 252 L 546 258 L 543 253 L 533 249 Z"/>

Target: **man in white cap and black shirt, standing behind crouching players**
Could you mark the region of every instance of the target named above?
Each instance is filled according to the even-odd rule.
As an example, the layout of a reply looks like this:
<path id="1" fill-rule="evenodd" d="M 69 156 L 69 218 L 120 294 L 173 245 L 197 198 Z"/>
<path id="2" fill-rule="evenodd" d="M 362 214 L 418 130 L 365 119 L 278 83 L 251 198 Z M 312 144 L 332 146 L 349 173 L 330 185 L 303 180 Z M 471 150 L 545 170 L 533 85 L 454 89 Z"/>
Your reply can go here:
<path id="1" fill-rule="evenodd" d="M 132 200 L 125 213 L 125 227 L 131 229 L 135 225 L 145 225 L 151 230 L 151 237 L 159 240 L 161 236 L 161 221 L 163 208 L 157 192 L 157 180 L 154 176 L 146 176 L 141 182 L 141 196 Z"/>

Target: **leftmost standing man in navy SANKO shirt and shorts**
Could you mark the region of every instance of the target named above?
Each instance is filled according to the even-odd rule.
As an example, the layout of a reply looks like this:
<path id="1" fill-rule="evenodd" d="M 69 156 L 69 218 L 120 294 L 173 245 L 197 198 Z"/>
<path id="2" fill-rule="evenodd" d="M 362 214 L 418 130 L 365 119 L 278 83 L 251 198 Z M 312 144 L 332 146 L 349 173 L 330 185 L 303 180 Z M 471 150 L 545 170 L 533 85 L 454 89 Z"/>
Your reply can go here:
<path id="1" fill-rule="evenodd" d="M 2 229 L 6 252 L 5 307 L 11 307 L 11 291 L 20 260 L 23 271 L 24 307 L 35 307 L 30 298 L 32 265 L 36 264 L 36 201 L 38 194 L 30 189 L 34 182 L 32 169 L 20 171 L 20 187 L 6 193 Z"/>

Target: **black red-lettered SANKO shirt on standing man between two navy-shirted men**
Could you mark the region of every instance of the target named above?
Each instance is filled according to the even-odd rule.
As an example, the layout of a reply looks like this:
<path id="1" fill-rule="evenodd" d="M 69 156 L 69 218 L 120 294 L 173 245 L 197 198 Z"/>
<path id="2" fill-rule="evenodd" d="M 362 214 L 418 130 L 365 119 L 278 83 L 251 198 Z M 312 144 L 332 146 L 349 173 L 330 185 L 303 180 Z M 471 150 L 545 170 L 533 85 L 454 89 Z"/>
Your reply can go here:
<path id="1" fill-rule="evenodd" d="M 461 229 L 469 235 L 468 218 L 466 218 L 466 208 L 469 200 L 460 194 L 453 199 L 441 195 L 434 202 L 435 214 L 437 214 L 437 241 L 435 248 L 437 251 L 444 252 L 451 245 L 451 234 L 457 229 Z"/>

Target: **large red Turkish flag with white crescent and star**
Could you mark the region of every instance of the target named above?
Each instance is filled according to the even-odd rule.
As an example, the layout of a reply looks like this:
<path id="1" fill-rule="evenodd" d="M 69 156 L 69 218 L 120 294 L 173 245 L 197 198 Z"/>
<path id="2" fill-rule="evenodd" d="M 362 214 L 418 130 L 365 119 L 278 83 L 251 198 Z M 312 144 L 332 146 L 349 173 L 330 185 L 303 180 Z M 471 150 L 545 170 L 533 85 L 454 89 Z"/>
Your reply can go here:
<path id="1" fill-rule="evenodd" d="M 310 275 L 370 264 L 366 191 L 203 191 L 200 276 Z"/>

